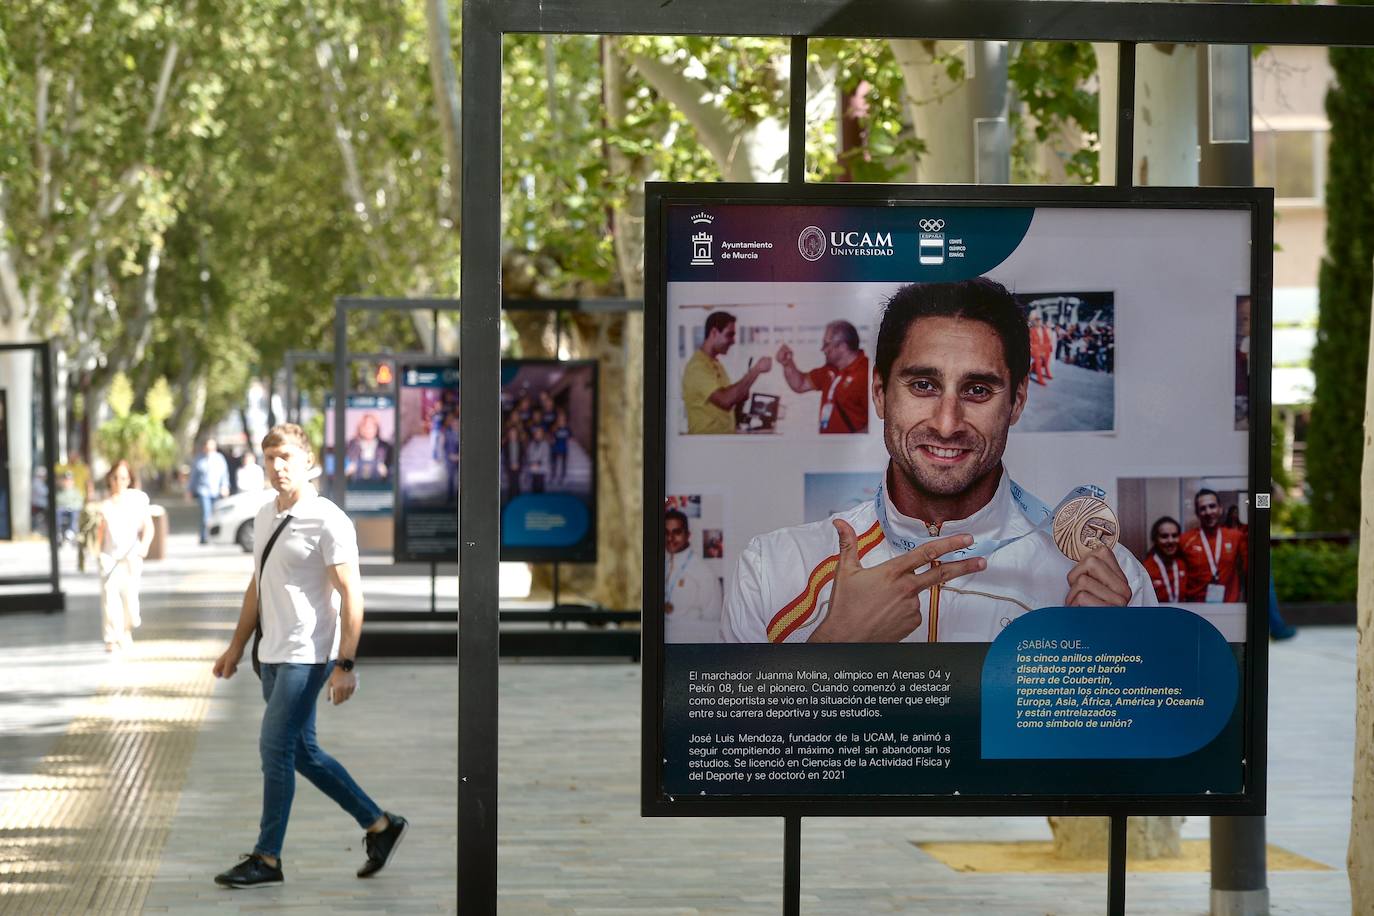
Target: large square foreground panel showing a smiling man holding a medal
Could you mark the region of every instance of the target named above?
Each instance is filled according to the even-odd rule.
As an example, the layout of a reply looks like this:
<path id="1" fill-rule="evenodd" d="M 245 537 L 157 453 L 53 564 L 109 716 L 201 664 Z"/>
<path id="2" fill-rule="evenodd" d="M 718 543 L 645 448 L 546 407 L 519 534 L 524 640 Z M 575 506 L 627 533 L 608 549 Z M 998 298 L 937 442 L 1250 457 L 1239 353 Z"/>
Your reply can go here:
<path id="1" fill-rule="evenodd" d="M 1271 224 L 650 185 L 644 813 L 1263 813 Z"/>

